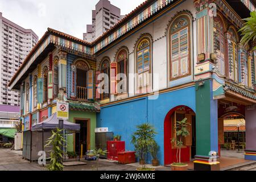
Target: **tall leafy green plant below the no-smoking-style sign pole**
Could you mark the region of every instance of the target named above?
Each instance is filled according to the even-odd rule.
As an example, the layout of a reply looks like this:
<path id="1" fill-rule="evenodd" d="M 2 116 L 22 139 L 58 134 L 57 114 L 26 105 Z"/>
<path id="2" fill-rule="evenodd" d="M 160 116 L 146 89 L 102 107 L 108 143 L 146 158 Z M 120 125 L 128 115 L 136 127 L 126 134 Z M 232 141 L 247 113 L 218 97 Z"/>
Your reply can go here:
<path id="1" fill-rule="evenodd" d="M 65 152 L 63 151 L 63 143 L 65 139 L 61 134 L 60 129 L 56 131 L 52 130 L 52 136 L 48 138 L 47 144 L 44 147 L 52 146 L 51 150 L 51 160 L 50 164 L 47 166 L 49 171 L 63 171 L 63 155 Z"/>

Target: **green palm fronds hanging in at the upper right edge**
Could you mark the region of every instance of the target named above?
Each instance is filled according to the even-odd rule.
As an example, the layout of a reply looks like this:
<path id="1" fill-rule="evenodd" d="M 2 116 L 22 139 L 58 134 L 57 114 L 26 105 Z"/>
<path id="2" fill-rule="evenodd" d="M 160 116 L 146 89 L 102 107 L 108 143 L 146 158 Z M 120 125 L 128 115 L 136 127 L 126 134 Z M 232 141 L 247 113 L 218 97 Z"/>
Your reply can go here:
<path id="1" fill-rule="evenodd" d="M 256 39 L 256 11 L 253 11 L 250 13 L 249 18 L 245 18 L 245 24 L 244 26 L 239 30 L 242 35 L 241 44 L 243 46 L 246 46 L 250 41 L 253 41 Z M 256 49 L 256 47 L 254 47 Z"/>

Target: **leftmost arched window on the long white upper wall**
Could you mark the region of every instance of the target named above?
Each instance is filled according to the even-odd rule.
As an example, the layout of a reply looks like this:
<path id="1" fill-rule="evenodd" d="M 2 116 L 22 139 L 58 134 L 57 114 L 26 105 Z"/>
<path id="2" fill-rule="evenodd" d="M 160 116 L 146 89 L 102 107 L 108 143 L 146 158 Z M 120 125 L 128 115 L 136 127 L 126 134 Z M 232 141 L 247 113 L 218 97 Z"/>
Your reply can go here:
<path id="1" fill-rule="evenodd" d="M 104 82 L 104 86 L 102 87 L 103 90 L 108 90 L 108 93 L 102 93 L 101 94 L 101 100 L 105 100 L 109 98 L 109 93 L 110 93 L 110 78 L 109 78 L 109 73 L 110 73 L 110 65 L 109 65 L 109 59 L 104 59 L 101 63 L 101 73 L 105 73 L 108 75 L 108 82 Z M 104 77 L 102 78 L 102 81 L 104 81 Z"/>

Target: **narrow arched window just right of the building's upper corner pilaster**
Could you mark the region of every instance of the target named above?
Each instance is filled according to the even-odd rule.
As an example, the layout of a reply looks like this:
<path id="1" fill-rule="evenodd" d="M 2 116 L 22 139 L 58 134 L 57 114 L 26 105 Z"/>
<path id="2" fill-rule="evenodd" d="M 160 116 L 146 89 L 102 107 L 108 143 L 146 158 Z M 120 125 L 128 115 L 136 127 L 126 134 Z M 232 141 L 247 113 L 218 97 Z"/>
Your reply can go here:
<path id="1" fill-rule="evenodd" d="M 214 52 L 217 55 L 218 72 L 225 75 L 225 29 L 220 16 L 214 16 Z"/>

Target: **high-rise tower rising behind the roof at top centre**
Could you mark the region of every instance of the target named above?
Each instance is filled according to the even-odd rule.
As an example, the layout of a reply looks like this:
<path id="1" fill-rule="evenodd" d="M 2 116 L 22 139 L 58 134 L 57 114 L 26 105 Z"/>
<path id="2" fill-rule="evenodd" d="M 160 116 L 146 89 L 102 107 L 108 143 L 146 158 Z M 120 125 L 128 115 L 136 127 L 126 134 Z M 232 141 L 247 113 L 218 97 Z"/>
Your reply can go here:
<path id="1" fill-rule="evenodd" d="M 121 10 L 112 5 L 108 0 L 100 0 L 96 4 L 96 10 L 92 11 L 92 24 L 86 26 L 84 40 L 92 42 L 108 31 L 114 24 L 122 19 Z"/>

